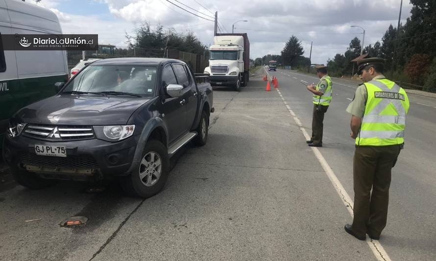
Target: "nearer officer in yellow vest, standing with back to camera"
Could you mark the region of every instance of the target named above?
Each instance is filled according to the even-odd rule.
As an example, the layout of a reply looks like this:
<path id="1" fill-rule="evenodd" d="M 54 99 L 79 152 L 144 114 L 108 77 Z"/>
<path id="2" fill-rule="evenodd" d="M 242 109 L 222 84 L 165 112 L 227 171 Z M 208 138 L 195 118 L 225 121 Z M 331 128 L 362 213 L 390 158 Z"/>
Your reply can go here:
<path id="1" fill-rule="evenodd" d="M 382 74 L 384 60 L 358 61 L 363 84 L 347 108 L 352 114 L 354 154 L 354 218 L 345 231 L 365 240 L 378 240 L 388 217 L 391 169 L 404 145 L 409 98 L 406 92 Z M 372 192 L 371 192 L 372 189 Z"/>

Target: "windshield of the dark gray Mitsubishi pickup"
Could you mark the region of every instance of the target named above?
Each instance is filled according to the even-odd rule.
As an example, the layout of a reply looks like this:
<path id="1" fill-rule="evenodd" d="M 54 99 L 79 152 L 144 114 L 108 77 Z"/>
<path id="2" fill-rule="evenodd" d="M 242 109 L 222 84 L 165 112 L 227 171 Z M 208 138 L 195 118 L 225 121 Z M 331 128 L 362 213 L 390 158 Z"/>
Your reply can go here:
<path id="1" fill-rule="evenodd" d="M 90 65 L 77 74 L 62 92 L 153 95 L 156 71 L 155 66 Z"/>

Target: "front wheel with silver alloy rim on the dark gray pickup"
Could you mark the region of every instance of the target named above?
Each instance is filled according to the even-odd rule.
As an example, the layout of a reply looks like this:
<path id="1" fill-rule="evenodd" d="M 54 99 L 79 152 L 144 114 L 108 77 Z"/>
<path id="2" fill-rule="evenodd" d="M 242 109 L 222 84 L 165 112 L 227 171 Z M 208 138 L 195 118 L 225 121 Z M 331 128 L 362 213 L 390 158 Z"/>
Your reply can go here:
<path id="1" fill-rule="evenodd" d="M 139 165 L 130 175 L 121 177 L 121 187 L 130 196 L 149 198 L 162 190 L 169 172 L 167 148 L 162 142 L 148 141 Z"/>

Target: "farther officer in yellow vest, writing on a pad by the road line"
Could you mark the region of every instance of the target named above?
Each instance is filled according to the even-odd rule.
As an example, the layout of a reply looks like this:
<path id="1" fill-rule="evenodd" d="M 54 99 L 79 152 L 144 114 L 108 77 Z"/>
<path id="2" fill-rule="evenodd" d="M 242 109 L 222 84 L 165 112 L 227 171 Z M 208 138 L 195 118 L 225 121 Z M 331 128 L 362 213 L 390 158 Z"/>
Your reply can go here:
<path id="1" fill-rule="evenodd" d="M 306 143 L 311 147 L 322 147 L 324 114 L 332 101 L 333 84 L 332 79 L 327 75 L 327 66 L 318 65 L 315 69 L 320 80 L 316 86 L 313 84 L 307 86 L 307 89 L 314 94 L 314 112 L 312 117 L 312 138 Z"/>

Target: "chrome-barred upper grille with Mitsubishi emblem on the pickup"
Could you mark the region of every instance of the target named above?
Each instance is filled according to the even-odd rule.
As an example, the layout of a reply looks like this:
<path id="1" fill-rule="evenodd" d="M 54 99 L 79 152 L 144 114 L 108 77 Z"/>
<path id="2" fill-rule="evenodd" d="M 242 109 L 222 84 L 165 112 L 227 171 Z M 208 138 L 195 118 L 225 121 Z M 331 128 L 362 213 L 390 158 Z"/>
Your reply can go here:
<path id="1" fill-rule="evenodd" d="M 24 130 L 24 136 L 46 141 L 74 141 L 94 139 L 92 126 L 55 126 L 29 124 Z"/>

